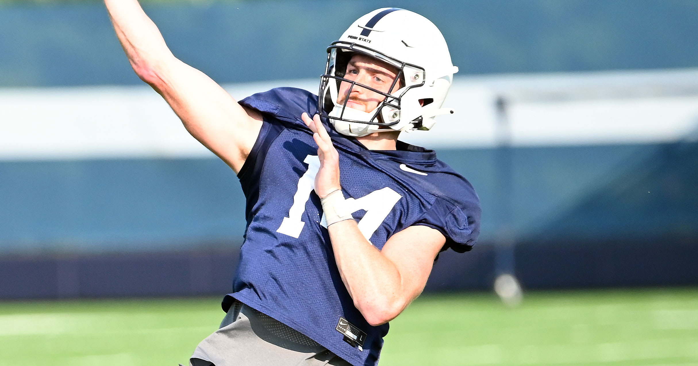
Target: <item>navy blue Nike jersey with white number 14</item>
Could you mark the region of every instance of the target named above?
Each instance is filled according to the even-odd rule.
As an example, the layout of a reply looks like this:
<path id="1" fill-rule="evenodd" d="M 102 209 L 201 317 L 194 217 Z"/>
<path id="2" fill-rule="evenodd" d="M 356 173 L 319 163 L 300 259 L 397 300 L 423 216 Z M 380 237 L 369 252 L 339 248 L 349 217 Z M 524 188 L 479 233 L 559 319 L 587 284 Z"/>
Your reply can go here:
<path id="1" fill-rule="evenodd" d="M 354 307 L 313 191 L 318 147 L 301 114 L 313 116 L 317 100 L 308 91 L 278 88 L 241 101 L 262 112 L 264 123 L 238 174 L 247 198 L 247 230 L 223 310 L 236 298 L 352 365 L 375 365 L 388 325 L 369 326 Z M 367 150 L 323 123 L 339 151 L 344 196 L 375 247 L 380 250 L 390 236 L 412 225 L 437 229 L 447 238 L 446 247 L 456 252 L 475 244 L 477 195 L 433 151 L 402 142 L 396 151 Z M 346 342 L 346 335 L 336 330 L 340 317 L 365 333 L 362 345 Z"/>

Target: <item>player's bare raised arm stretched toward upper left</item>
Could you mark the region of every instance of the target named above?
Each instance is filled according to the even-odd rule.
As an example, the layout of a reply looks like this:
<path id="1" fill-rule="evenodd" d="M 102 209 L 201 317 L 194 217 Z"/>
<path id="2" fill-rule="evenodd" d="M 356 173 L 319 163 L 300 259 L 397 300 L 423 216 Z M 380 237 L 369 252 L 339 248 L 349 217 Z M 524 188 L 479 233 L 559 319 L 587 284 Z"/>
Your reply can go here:
<path id="1" fill-rule="evenodd" d="M 114 30 L 135 73 L 165 98 L 193 137 L 236 173 L 262 126 L 204 73 L 179 61 L 137 0 L 105 0 Z"/>

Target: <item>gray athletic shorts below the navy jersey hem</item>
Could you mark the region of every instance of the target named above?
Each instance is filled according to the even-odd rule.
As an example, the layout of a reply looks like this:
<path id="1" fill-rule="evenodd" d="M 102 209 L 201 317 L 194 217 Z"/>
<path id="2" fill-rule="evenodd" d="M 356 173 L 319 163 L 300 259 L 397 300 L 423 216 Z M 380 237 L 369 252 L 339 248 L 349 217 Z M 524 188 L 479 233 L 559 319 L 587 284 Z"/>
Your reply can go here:
<path id="1" fill-rule="evenodd" d="M 190 366 L 351 366 L 297 330 L 239 302 L 202 340 Z"/>

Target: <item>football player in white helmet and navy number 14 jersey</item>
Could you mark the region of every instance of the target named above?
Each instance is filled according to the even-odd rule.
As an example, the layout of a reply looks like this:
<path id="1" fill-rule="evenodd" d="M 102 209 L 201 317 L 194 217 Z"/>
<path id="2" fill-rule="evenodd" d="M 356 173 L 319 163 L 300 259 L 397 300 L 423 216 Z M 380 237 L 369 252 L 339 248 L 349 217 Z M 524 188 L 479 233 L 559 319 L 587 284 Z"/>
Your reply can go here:
<path id="1" fill-rule="evenodd" d="M 319 97 L 239 102 L 176 59 L 137 0 L 105 0 L 135 73 L 237 174 L 247 229 L 221 328 L 191 365 L 376 365 L 440 251 L 475 244 L 465 178 L 401 131 L 429 130 L 457 68 L 421 15 L 382 8 L 327 49 Z M 240 52 L 244 56 L 244 52 Z"/>

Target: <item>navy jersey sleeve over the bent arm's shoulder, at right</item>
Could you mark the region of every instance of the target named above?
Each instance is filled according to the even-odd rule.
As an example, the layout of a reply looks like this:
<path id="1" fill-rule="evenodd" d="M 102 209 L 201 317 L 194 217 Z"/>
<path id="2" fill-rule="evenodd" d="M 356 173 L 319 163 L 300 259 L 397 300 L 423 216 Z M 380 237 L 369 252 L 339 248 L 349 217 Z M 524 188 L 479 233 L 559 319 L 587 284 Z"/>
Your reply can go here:
<path id="1" fill-rule="evenodd" d="M 477 201 L 454 202 L 441 197 L 415 225 L 424 225 L 440 231 L 446 237 L 444 250 L 463 253 L 473 249 L 480 234 L 480 205 Z"/>

